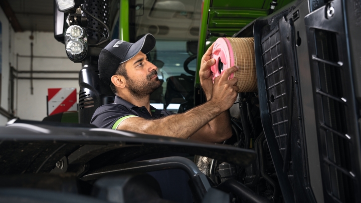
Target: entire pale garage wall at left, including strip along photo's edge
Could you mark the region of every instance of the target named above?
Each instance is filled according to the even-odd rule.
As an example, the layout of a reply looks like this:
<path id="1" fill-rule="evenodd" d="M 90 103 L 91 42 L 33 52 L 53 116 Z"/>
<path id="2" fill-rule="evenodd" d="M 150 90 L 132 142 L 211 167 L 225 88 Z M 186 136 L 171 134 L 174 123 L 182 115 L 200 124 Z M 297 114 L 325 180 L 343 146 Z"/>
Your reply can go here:
<path id="1" fill-rule="evenodd" d="M 78 74 L 33 74 L 33 77 L 51 78 L 76 78 L 76 80 L 33 80 L 33 94 L 31 94 L 31 82 L 28 79 L 14 80 L 14 101 L 11 108 L 10 99 L 10 67 L 19 71 L 30 71 L 31 67 L 31 43 L 33 43 L 33 55 L 37 57 L 57 58 L 33 58 L 34 71 L 76 71 L 81 69 L 81 64 L 70 61 L 65 53 L 64 44 L 54 39 L 53 33 L 47 32 L 18 32 L 15 33 L 7 16 L 0 8 L 0 22 L 2 28 L 2 81 L 0 106 L 21 119 L 43 120 L 47 116 L 48 88 L 77 88 Z M 32 36 L 32 37 L 31 37 Z M 16 75 L 16 74 L 15 74 Z M 30 77 L 29 73 L 18 74 L 18 77 Z M 4 126 L 8 119 L 0 114 L 0 126 Z"/>

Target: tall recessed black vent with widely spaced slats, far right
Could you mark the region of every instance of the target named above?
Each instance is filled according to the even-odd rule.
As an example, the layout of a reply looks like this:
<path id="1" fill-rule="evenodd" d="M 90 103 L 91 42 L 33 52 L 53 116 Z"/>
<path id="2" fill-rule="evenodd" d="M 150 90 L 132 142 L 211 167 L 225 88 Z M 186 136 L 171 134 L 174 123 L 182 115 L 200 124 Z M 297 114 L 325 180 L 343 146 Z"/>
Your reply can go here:
<path id="1" fill-rule="evenodd" d="M 344 98 L 343 62 L 339 60 L 336 34 L 314 31 L 313 82 L 319 141 L 322 150 L 321 168 L 327 194 L 335 202 L 354 202 L 354 179 L 351 165 L 351 140 L 347 135 L 347 100 Z M 322 160 L 323 159 L 323 160 Z"/>

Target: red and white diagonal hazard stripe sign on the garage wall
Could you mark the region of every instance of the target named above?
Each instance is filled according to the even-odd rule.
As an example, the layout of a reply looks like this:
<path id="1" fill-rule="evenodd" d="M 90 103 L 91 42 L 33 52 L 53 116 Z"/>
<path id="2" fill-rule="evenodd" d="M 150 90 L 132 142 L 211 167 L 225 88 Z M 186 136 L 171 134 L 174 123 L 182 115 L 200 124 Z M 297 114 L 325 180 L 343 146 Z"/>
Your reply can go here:
<path id="1" fill-rule="evenodd" d="M 76 111 L 76 88 L 49 88 L 48 112 L 49 116 L 65 111 Z"/>

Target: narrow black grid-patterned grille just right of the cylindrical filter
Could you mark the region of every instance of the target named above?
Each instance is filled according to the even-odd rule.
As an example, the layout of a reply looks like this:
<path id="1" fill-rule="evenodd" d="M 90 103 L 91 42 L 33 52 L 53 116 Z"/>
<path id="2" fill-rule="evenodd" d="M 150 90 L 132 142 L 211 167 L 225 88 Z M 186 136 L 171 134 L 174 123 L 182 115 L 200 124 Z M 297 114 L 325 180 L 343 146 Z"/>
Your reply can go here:
<path id="1" fill-rule="evenodd" d="M 274 30 L 273 33 L 262 39 L 261 47 L 272 128 L 284 158 L 288 132 L 287 95 L 280 33 L 278 29 Z"/>

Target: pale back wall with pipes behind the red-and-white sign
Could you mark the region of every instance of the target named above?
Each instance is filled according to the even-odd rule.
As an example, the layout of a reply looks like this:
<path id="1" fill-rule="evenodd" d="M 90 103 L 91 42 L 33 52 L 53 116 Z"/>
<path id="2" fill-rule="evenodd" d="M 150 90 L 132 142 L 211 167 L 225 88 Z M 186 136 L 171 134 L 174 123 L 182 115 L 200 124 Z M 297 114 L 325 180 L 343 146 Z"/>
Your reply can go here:
<path id="1" fill-rule="evenodd" d="M 33 40 L 30 39 L 33 36 Z M 65 53 L 64 44 L 54 39 L 53 33 L 45 32 L 23 32 L 14 35 L 14 53 L 18 59 L 19 71 L 30 71 L 31 66 L 31 43 L 33 43 L 33 55 L 41 57 L 63 57 L 63 58 L 33 58 L 34 71 L 79 71 L 80 63 L 70 61 Z M 19 56 L 17 56 L 17 54 Z M 22 73 L 19 77 L 30 77 L 29 73 Z M 78 78 L 77 73 L 72 74 L 33 74 L 33 77 L 61 77 Z M 47 116 L 48 88 L 75 87 L 79 93 L 78 80 L 33 80 L 33 91 L 31 94 L 30 80 L 19 79 L 15 95 L 16 115 L 21 119 L 43 120 Z"/>

